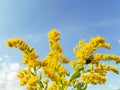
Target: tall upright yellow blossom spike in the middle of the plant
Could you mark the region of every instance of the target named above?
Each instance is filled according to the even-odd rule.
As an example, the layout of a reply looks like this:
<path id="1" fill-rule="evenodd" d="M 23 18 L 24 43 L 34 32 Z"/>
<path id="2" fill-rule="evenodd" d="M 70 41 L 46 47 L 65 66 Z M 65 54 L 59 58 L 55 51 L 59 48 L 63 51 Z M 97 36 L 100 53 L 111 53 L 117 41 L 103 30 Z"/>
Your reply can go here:
<path id="1" fill-rule="evenodd" d="M 60 82 L 59 77 L 69 75 L 68 70 L 65 69 L 63 66 L 63 64 L 69 63 L 69 59 L 62 54 L 63 50 L 61 45 L 59 44 L 60 33 L 56 29 L 52 29 L 48 33 L 48 38 L 50 52 L 43 59 L 42 69 L 47 77 L 49 77 L 53 81 L 56 81 L 54 83 L 65 84 Z M 64 81 L 66 80 L 67 79 L 64 77 Z M 58 85 L 56 89 L 59 89 L 60 87 L 62 87 L 62 85 Z"/>

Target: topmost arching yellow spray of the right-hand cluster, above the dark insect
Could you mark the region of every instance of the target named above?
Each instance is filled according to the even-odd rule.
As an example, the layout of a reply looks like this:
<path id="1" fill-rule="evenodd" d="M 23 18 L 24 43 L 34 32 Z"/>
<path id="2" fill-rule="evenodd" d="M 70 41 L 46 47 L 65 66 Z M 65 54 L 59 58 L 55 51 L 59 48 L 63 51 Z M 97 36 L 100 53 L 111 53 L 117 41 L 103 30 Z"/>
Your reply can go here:
<path id="1" fill-rule="evenodd" d="M 85 43 L 84 40 L 81 40 L 78 45 L 74 48 L 74 53 L 76 58 L 79 59 L 81 64 L 89 64 L 93 61 L 94 51 L 98 48 L 104 47 L 110 49 L 110 44 L 105 42 L 105 39 L 97 36 L 92 38 L 88 43 Z"/>

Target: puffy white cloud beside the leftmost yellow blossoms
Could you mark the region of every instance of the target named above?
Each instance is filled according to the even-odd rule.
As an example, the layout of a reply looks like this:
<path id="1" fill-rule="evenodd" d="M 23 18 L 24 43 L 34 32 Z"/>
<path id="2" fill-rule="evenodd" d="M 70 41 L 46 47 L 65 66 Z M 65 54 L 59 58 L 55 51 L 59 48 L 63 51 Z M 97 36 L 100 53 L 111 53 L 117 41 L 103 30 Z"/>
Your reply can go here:
<path id="1" fill-rule="evenodd" d="M 5 57 L 6 60 L 0 63 L 0 90 L 22 90 L 16 77 L 20 69 L 19 63 L 8 62 L 9 56 Z"/>

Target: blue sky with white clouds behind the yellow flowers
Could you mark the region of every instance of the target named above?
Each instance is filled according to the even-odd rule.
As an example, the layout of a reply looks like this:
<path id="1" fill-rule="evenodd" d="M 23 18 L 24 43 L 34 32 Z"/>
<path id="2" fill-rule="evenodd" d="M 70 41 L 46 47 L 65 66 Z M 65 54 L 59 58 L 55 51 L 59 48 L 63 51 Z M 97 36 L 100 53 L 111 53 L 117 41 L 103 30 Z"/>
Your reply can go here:
<path id="1" fill-rule="evenodd" d="M 60 31 L 64 55 L 71 60 L 79 40 L 97 35 L 112 46 L 100 52 L 120 55 L 120 0 L 0 0 L 0 90 L 25 90 L 16 78 L 22 67 L 21 52 L 6 47 L 5 41 L 19 37 L 43 59 L 49 52 L 47 34 L 52 28 Z M 90 85 L 88 90 L 119 88 L 120 75 L 108 73 L 105 85 Z"/>

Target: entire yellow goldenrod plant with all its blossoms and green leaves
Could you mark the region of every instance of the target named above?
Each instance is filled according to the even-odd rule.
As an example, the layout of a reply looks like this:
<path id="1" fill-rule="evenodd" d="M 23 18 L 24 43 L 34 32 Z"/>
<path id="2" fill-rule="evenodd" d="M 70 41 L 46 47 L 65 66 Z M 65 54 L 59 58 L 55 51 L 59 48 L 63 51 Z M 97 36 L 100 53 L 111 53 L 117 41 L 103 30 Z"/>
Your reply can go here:
<path id="1" fill-rule="evenodd" d="M 25 41 L 20 38 L 7 40 L 9 47 L 22 51 L 22 64 L 26 68 L 21 69 L 17 77 L 20 86 L 27 86 L 27 90 L 86 90 L 88 84 L 104 84 L 107 72 L 119 74 L 117 67 L 107 65 L 101 61 L 114 60 L 120 63 L 117 55 L 98 53 L 98 48 L 110 49 L 110 44 L 105 39 L 97 36 L 89 42 L 81 40 L 74 48 L 75 59 L 69 60 L 63 55 L 60 45 L 60 32 L 52 29 L 48 33 L 50 52 L 43 60 L 38 60 L 39 55 Z M 69 64 L 74 72 L 70 73 L 64 65 Z M 68 78 L 69 77 L 69 78 Z"/>

